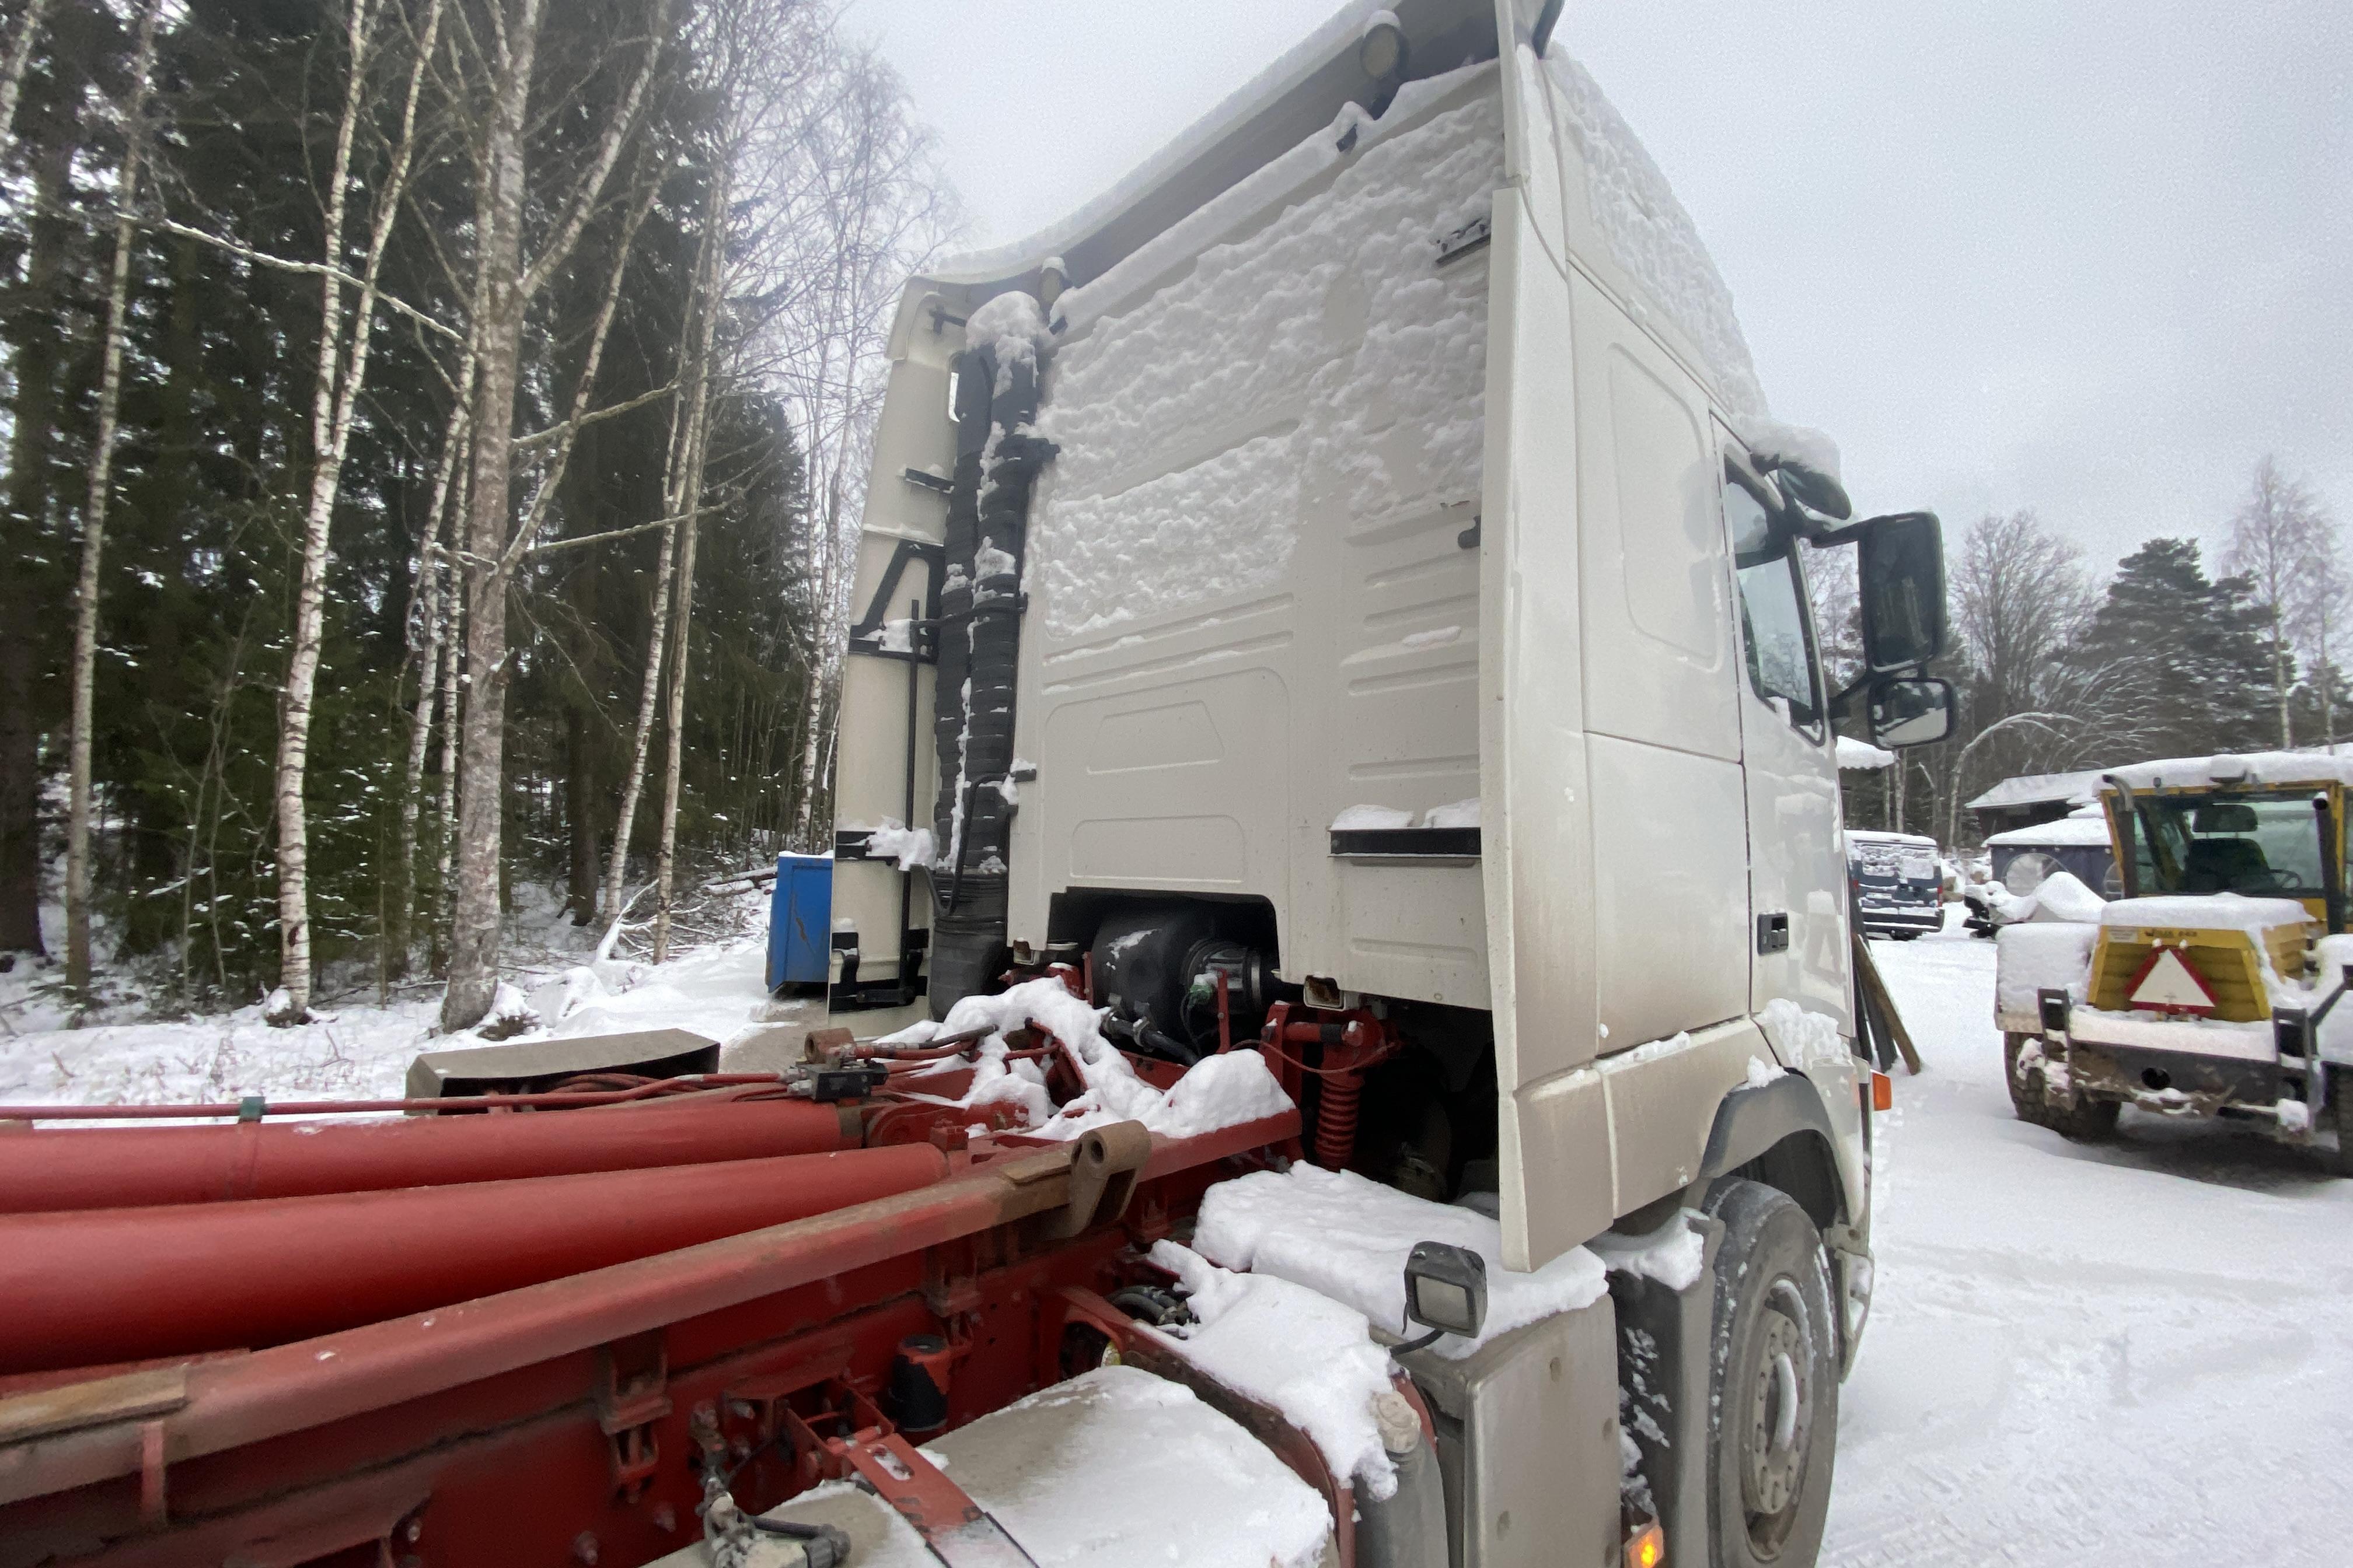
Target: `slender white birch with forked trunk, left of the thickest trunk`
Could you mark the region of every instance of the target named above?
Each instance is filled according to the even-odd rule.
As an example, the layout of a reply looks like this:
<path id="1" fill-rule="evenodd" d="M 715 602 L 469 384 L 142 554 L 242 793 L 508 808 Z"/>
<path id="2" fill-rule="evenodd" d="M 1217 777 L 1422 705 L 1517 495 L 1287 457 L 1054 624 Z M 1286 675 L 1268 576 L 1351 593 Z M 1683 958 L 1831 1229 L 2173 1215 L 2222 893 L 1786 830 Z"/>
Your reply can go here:
<path id="1" fill-rule="evenodd" d="M 416 103 L 426 87 L 426 66 L 440 40 L 442 0 L 426 0 L 407 92 L 400 101 L 400 129 L 393 139 L 391 167 L 376 181 L 374 214 L 367 230 L 367 254 L 351 310 L 344 308 L 344 223 L 353 190 L 351 153 L 360 120 L 369 108 L 367 78 L 376 33 L 388 28 L 388 0 L 348 0 L 344 14 L 344 118 L 334 134 L 334 160 L 327 188 L 327 230 L 320 247 L 322 299 L 318 324 L 318 381 L 311 388 L 311 496 L 304 508 L 301 571 L 294 590 L 294 646 L 287 658 L 287 684 L 278 726 L 278 929 L 280 929 L 280 999 L 271 1023 L 304 1023 L 311 1016 L 311 884 L 308 818 L 304 813 L 304 778 L 311 766 L 311 698 L 318 689 L 318 654 L 327 599 L 327 534 L 334 522 L 344 482 L 344 458 L 351 451 L 351 425 L 367 386 L 367 350 L 376 327 L 376 292 L 393 223 L 407 195 L 409 162 L 416 141 Z"/>

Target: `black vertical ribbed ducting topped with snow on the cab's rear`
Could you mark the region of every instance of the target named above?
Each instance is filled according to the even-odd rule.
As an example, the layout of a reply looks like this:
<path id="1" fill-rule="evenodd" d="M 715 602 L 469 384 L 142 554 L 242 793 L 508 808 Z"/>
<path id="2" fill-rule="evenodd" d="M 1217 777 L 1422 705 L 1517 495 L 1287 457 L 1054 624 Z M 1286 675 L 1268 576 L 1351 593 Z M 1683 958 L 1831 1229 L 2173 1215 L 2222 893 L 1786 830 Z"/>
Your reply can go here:
<path id="1" fill-rule="evenodd" d="M 932 835 L 932 1016 L 1005 971 L 1005 896 L 1014 764 L 1014 672 L 1028 505 L 1054 444 L 1035 433 L 1038 355 L 1052 343 L 1038 301 L 998 294 L 965 324 L 955 393 L 955 491 L 939 590 L 939 684 L 932 738 L 939 797 Z"/>

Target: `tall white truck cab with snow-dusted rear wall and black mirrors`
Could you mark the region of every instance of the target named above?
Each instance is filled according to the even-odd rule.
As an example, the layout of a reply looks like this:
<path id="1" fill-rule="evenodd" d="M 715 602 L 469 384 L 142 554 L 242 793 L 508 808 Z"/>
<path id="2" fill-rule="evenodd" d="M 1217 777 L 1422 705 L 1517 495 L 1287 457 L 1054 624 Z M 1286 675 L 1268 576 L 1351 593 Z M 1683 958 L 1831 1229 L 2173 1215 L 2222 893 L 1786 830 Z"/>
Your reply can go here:
<path id="1" fill-rule="evenodd" d="M 1351 7 L 1061 228 L 908 284 L 831 1006 L 880 1032 L 1068 966 L 1139 1058 L 1271 1027 L 1322 1051 L 1318 1157 L 1485 1208 L 1511 1269 L 1687 1208 L 1819 1234 L 1819 1474 L 1781 1432 L 1725 1460 L 1751 1523 L 1706 1526 L 1762 1559 L 1819 1533 L 1871 1288 L 1833 719 L 1944 736 L 1941 543 L 1852 522 L 1767 418 L 1558 9 Z M 1849 545 L 1833 691 L 1805 564 Z M 1346 1018 L 1407 1044 L 1358 1072 Z"/>

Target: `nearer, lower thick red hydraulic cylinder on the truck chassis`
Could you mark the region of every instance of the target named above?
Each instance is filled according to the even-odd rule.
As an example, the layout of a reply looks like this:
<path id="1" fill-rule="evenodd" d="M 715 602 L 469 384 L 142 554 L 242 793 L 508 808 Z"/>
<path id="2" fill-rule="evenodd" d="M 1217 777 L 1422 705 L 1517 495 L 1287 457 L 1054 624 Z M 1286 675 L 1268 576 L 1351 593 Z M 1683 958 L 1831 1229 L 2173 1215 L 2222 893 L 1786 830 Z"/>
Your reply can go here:
<path id="1" fill-rule="evenodd" d="M 927 1187 L 927 1143 L 464 1187 L 0 1215 L 0 1373 L 264 1347 Z"/>

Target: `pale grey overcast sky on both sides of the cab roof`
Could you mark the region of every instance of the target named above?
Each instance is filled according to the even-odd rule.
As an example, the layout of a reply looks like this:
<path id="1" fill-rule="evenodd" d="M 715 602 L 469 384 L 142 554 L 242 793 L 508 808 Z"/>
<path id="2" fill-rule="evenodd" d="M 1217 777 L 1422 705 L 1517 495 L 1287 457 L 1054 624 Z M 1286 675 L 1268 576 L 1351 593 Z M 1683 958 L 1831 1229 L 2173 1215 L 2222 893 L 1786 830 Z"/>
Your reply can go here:
<path id="1" fill-rule="evenodd" d="M 854 0 L 852 26 L 1002 242 L 1334 9 Z M 1857 505 L 1953 534 L 2031 505 L 2104 569 L 2158 534 L 2219 543 L 2278 451 L 2353 524 L 2353 2 L 1569 0 L 1560 45 Z"/>

